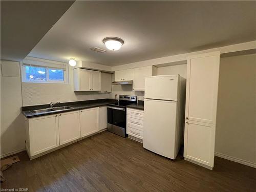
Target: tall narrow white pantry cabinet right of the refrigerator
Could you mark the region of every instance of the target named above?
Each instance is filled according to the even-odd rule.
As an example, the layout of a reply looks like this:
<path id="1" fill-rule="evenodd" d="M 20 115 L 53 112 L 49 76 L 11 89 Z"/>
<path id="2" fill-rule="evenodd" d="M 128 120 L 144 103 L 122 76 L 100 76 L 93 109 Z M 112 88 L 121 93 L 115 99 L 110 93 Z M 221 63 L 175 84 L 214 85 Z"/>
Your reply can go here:
<path id="1" fill-rule="evenodd" d="M 188 56 L 184 158 L 214 167 L 220 52 Z"/>

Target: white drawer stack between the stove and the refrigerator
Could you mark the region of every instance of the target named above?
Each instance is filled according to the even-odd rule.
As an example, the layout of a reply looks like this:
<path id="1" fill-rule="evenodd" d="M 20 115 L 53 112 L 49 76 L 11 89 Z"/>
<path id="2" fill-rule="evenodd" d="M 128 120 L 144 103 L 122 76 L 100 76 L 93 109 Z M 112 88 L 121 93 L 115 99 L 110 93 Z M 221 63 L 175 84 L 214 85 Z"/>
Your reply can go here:
<path id="1" fill-rule="evenodd" d="M 143 139 L 144 111 L 127 108 L 126 133 L 128 135 Z"/>

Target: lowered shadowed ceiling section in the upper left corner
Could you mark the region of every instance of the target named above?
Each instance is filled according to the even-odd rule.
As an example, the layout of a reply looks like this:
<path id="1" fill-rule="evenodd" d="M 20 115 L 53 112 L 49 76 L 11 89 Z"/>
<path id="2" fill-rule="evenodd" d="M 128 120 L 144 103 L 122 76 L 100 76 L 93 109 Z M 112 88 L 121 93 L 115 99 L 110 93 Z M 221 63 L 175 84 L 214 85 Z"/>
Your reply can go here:
<path id="1" fill-rule="evenodd" d="M 74 1 L 1 1 L 1 59 L 21 61 Z"/>

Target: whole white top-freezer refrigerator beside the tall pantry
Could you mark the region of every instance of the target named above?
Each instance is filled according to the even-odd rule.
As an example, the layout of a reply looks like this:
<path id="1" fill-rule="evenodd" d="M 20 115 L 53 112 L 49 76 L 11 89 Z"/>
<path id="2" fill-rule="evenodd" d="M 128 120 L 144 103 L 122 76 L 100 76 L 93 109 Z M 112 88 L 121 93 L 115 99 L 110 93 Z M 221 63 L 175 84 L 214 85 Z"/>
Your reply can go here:
<path id="1" fill-rule="evenodd" d="M 143 147 L 175 159 L 182 142 L 181 77 L 145 78 Z"/>

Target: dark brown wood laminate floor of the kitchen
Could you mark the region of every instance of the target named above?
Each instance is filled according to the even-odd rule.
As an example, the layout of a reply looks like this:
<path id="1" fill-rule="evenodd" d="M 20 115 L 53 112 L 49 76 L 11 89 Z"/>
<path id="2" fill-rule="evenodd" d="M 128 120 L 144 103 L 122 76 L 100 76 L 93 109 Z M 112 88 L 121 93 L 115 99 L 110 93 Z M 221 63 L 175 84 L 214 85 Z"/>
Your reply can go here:
<path id="1" fill-rule="evenodd" d="M 219 157 L 214 170 L 175 161 L 102 132 L 4 172 L 1 188 L 29 191 L 256 191 L 256 169 Z"/>

